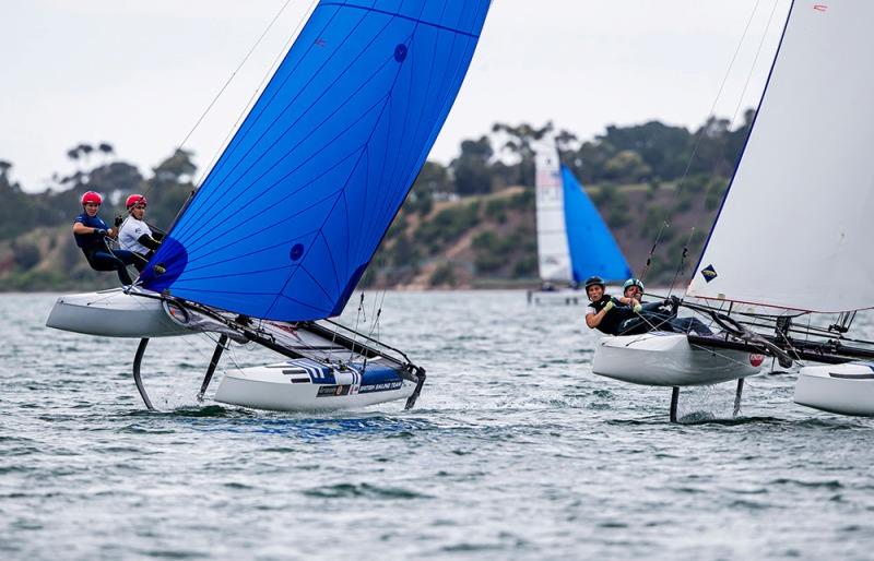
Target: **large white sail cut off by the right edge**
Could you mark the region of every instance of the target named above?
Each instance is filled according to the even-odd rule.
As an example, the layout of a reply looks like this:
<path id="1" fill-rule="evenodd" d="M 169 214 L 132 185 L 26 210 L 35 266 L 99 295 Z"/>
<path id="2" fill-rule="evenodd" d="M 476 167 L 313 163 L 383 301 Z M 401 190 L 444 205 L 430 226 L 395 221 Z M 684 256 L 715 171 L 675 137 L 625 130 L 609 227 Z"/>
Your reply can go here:
<path id="1" fill-rule="evenodd" d="M 688 296 L 874 308 L 874 1 L 795 2 Z"/>

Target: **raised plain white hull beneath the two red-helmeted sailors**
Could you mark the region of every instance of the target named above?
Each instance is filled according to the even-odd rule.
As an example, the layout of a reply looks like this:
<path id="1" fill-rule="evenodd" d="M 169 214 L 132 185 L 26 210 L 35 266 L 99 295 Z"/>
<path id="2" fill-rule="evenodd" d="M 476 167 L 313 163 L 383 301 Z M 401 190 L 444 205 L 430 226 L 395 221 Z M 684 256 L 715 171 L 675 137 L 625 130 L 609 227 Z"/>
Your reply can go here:
<path id="1" fill-rule="evenodd" d="M 169 337 L 190 335 L 170 313 L 186 314 L 157 298 L 126 294 L 121 288 L 61 296 L 51 308 L 46 325 L 104 337 Z"/>

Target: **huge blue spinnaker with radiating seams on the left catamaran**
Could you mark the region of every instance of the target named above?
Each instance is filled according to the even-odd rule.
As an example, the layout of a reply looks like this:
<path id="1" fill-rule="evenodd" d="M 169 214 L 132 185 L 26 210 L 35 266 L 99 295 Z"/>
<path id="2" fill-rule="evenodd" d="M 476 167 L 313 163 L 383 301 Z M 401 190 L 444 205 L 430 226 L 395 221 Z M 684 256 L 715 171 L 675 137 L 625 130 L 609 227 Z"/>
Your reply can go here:
<path id="1" fill-rule="evenodd" d="M 143 286 L 255 318 L 339 314 L 449 114 L 488 5 L 319 2 Z"/>

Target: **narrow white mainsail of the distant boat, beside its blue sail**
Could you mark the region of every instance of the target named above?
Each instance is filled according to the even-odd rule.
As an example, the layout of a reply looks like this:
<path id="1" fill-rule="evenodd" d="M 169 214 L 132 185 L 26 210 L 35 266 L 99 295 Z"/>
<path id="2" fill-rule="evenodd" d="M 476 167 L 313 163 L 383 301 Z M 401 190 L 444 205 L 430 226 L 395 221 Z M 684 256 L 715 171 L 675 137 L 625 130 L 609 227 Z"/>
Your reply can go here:
<path id="1" fill-rule="evenodd" d="M 534 184 L 538 207 L 538 264 L 542 280 L 570 283 L 570 249 L 565 226 L 565 199 L 558 151 L 546 139 L 538 147 Z"/>

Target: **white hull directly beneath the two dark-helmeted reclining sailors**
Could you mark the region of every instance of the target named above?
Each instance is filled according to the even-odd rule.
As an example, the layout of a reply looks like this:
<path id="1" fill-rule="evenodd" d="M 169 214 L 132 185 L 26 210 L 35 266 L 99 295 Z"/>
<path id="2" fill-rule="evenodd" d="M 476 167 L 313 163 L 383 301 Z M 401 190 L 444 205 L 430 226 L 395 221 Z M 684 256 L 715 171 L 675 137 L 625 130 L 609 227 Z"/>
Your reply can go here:
<path id="1" fill-rule="evenodd" d="M 602 338 L 592 372 L 641 385 L 709 385 L 758 373 L 759 355 L 693 347 L 681 333 L 652 332 Z"/>

